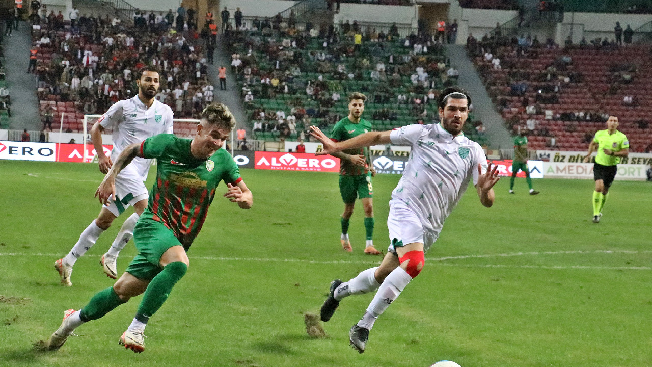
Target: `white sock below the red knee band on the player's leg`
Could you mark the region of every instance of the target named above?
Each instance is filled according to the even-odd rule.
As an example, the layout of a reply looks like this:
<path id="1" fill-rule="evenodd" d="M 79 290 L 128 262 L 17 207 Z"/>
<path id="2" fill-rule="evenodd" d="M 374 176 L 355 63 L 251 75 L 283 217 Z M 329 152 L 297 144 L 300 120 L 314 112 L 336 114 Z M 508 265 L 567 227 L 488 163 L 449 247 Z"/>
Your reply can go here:
<path id="1" fill-rule="evenodd" d="M 374 327 L 374 321 L 398 298 L 398 295 L 408 286 L 411 280 L 412 278 L 408 272 L 400 266 L 389 273 L 378 288 L 376 295 L 374 295 L 374 299 L 369 304 L 363 319 L 358 322 L 358 326 L 371 330 Z"/>

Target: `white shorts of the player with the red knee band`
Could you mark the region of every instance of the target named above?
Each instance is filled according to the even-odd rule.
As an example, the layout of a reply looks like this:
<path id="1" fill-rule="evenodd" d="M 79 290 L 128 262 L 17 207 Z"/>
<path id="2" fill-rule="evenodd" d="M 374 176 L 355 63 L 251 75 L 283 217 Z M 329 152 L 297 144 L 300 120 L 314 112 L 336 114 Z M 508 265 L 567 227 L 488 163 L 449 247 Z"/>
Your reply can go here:
<path id="1" fill-rule="evenodd" d="M 414 242 L 423 244 L 423 252 L 425 253 L 439 237 L 437 232 L 424 231 L 419 216 L 408 205 L 398 200 L 389 202 L 387 229 L 389 229 L 389 247 L 387 251 L 391 253 L 396 253 L 395 247 L 402 247 Z"/>

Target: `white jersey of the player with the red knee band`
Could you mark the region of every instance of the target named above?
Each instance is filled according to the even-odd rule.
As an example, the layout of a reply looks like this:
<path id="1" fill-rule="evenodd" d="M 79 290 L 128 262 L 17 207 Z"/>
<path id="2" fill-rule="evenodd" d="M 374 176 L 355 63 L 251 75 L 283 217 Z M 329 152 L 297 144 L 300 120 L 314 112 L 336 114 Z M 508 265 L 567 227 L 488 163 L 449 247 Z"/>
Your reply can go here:
<path id="1" fill-rule="evenodd" d="M 393 144 L 411 146 L 408 163 L 392 200 L 400 200 L 419 217 L 424 231 L 441 232 L 469 181 L 478 180 L 487 160 L 480 144 L 464 135 L 452 136 L 441 125 L 408 125 L 389 135 Z"/>

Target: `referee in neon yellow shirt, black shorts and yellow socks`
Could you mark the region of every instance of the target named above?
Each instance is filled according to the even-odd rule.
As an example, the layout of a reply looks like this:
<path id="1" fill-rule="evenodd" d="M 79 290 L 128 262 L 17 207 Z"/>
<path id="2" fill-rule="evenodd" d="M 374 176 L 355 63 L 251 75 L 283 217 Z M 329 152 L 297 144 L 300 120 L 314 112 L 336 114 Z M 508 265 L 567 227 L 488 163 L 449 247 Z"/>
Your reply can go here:
<path id="1" fill-rule="evenodd" d="M 584 162 L 588 163 L 591 153 L 598 152 L 595 156 L 595 163 L 593 163 L 593 180 L 595 180 L 593 223 L 600 223 L 602 208 L 609 197 L 609 187 L 614 183 L 620 158 L 629 155 L 629 140 L 617 128 L 618 118 L 609 116 L 607 129 L 595 133 L 593 141 L 589 144 L 589 152 L 584 157 Z"/>

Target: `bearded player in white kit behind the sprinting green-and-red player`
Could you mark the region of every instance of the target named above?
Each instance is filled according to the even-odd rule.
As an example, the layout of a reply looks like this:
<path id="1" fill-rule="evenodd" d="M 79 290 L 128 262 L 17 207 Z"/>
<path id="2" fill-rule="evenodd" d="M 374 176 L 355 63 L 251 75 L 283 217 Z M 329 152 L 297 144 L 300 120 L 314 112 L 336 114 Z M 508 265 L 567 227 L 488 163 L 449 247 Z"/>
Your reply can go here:
<path id="1" fill-rule="evenodd" d="M 117 157 L 129 144 L 160 133 L 172 133 L 173 114 L 170 106 L 154 98 L 160 86 L 158 69 L 151 66 L 141 69 L 136 84 L 138 95 L 113 104 L 91 128 L 91 138 L 102 173 L 106 174 L 113 165 L 102 148 L 104 129 L 113 129 L 113 157 Z M 54 268 L 59 272 L 63 285 L 72 285 L 70 276 L 77 259 L 93 247 L 100 235 L 111 227 L 115 218 L 133 206 L 135 213 L 125 220 L 109 251 L 100 259 L 104 273 L 113 279 L 117 277 L 117 256 L 132 238 L 136 221 L 147 206 L 147 188 L 143 181 L 147 180 L 150 164 L 150 159 L 136 157 L 131 165 L 121 170 L 115 179 L 115 200 L 102 206 L 100 214 L 82 232 L 68 255 L 55 261 Z"/>

